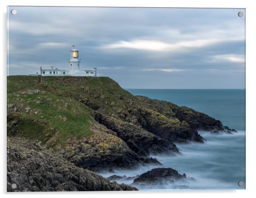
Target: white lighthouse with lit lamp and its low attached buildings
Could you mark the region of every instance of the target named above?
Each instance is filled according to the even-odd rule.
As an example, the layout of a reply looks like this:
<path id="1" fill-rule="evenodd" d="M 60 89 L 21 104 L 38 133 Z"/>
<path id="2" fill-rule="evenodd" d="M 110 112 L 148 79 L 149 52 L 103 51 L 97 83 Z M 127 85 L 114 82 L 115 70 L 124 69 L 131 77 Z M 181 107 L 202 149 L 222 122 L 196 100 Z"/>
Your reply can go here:
<path id="1" fill-rule="evenodd" d="M 97 68 L 93 68 L 94 70 L 80 70 L 80 61 L 79 52 L 73 45 L 70 50 L 69 69 L 59 69 L 53 66 L 48 69 L 41 67 L 40 73 L 42 76 L 97 76 Z M 29 75 L 35 76 L 37 74 Z"/>

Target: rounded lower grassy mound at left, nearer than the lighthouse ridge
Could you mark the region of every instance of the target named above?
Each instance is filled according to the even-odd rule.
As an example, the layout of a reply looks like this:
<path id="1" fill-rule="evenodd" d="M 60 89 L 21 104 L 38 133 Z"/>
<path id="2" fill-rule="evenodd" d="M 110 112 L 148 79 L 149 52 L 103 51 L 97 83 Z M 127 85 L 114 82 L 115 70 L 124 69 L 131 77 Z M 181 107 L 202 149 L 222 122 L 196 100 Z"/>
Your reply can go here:
<path id="1" fill-rule="evenodd" d="M 10 122 L 20 120 L 16 127 L 19 136 L 53 146 L 73 136 L 82 138 L 93 134 L 90 127 L 96 121 L 91 116 L 92 110 L 82 103 L 51 93 L 18 94 L 9 93 L 8 104 L 26 105 L 19 112 L 9 111 Z M 27 112 L 26 107 L 31 110 Z"/>

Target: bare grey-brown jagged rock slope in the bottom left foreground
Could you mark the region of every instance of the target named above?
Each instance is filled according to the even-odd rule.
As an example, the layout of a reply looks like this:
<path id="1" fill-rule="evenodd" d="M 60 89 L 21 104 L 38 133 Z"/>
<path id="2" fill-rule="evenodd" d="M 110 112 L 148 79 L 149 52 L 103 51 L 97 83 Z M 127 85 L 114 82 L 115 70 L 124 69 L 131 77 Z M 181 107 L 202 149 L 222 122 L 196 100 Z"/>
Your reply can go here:
<path id="1" fill-rule="evenodd" d="M 8 192 L 137 190 L 79 168 L 34 142 L 21 138 L 7 142 Z"/>

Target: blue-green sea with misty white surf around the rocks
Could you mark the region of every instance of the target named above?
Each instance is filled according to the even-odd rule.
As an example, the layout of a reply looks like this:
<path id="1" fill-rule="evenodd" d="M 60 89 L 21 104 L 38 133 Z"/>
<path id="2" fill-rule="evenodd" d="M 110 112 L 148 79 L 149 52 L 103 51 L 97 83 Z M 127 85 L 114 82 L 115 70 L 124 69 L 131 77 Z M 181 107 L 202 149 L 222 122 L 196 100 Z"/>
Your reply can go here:
<path id="1" fill-rule="evenodd" d="M 156 167 L 171 167 L 195 181 L 185 184 L 191 190 L 245 189 L 245 89 L 126 89 L 133 95 L 165 100 L 179 106 L 191 107 L 222 122 L 237 133 L 211 135 L 199 131 L 207 141 L 204 144 L 176 144 L 180 156 L 152 156 L 162 166 L 145 166 L 137 170 L 116 170 L 100 173 L 104 177 L 125 175 L 132 177 Z M 239 186 L 239 181 L 243 185 Z M 133 179 L 120 180 L 131 184 Z M 241 184 L 241 183 L 240 183 Z M 171 186 L 162 189 L 172 190 Z"/>

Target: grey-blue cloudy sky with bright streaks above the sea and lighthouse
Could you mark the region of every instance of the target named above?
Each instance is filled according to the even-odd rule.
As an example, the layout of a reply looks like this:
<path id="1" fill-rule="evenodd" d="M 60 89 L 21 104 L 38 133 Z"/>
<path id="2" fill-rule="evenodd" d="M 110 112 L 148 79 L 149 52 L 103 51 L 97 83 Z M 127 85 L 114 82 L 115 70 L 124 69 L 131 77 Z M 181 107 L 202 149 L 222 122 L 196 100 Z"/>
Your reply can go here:
<path id="1" fill-rule="evenodd" d="M 243 9 L 9 7 L 9 75 L 98 68 L 123 88 L 245 88 Z"/>

